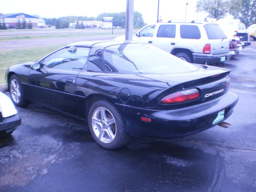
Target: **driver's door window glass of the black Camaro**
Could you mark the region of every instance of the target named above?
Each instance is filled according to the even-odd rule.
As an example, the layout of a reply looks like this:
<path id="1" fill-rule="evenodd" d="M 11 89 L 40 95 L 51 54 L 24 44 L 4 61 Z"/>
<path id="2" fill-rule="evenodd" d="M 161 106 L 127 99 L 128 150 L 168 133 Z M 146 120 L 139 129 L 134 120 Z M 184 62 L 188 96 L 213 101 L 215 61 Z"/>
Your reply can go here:
<path id="1" fill-rule="evenodd" d="M 82 70 L 87 61 L 90 48 L 74 47 L 63 48 L 45 58 L 42 62 L 44 68 Z"/>

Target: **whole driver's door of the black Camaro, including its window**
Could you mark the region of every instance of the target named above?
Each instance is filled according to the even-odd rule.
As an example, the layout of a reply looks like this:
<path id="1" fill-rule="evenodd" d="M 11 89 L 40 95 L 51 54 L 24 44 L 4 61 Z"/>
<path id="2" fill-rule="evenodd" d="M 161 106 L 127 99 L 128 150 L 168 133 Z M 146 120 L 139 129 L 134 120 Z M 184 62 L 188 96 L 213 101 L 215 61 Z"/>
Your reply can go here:
<path id="1" fill-rule="evenodd" d="M 28 83 L 35 102 L 77 115 L 76 78 L 87 61 L 90 48 L 62 48 L 30 70 Z"/>

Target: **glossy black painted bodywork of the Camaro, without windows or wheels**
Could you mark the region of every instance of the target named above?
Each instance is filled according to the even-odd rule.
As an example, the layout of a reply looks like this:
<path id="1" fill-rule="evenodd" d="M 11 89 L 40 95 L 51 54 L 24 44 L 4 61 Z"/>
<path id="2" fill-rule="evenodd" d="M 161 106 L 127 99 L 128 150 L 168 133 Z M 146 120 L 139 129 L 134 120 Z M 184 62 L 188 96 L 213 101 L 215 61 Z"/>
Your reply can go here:
<path id="1" fill-rule="evenodd" d="M 212 66 L 196 64 L 199 70 L 186 74 L 137 75 L 35 70 L 32 69 L 35 64 L 37 62 L 11 66 L 6 72 L 6 81 L 12 74 L 17 74 L 28 100 L 84 120 L 87 120 L 93 100 L 107 98 L 126 114 L 126 131 L 136 136 L 174 138 L 200 132 L 214 126 L 212 119 L 216 118 L 218 111 L 225 109 L 224 120 L 228 118 L 238 101 L 238 96 L 228 92 L 227 88 L 218 98 L 207 100 L 204 97 L 207 91 L 225 87 L 230 80 L 230 70 Z M 187 88 L 198 88 L 200 98 L 182 104 L 159 103 L 164 96 Z M 142 122 L 142 116 L 152 118 L 152 122 Z"/>

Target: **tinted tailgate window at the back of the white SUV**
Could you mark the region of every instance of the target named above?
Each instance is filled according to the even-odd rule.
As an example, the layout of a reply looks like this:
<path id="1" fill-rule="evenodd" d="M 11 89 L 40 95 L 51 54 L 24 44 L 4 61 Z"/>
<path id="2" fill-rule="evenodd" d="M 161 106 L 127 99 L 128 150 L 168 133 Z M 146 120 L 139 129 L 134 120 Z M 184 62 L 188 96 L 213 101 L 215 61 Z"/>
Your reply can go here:
<path id="1" fill-rule="evenodd" d="M 204 25 L 204 29 L 207 33 L 208 39 L 227 38 L 226 34 L 218 24 L 206 24 Z"/>

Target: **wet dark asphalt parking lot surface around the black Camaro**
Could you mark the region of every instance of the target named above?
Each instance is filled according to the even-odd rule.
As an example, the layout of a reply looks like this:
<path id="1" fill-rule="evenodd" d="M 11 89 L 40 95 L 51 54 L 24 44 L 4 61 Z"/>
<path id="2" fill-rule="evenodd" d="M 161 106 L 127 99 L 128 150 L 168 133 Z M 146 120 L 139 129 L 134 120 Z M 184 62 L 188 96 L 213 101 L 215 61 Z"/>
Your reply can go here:
<path id="1" fill-rule="evenodd" d="M 231 126 L 172 140 L 132 138 L 118 150 L 94 142 L 86 123 L 32 103 L 22 124 L 0 139 L 3 192 L 256 191 L 256 41 L 232 69 L 239 101 Z M 8 94 L 8 93 L 6 93 Z"/>

